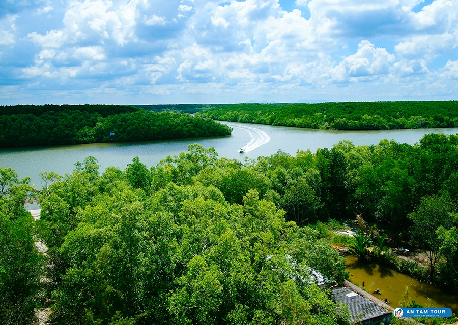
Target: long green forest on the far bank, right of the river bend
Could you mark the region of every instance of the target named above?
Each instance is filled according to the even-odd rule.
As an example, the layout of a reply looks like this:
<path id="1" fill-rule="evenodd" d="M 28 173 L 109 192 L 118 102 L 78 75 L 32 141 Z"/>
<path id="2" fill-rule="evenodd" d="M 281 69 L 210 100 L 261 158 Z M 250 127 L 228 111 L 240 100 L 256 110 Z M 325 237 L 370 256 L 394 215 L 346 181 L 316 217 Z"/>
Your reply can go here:
<path id="1" fill-rule="evenodd" d="M 458 101 L 227 104 L 197 116 L 314 129 L 377 130 L 458 127 Z"/>

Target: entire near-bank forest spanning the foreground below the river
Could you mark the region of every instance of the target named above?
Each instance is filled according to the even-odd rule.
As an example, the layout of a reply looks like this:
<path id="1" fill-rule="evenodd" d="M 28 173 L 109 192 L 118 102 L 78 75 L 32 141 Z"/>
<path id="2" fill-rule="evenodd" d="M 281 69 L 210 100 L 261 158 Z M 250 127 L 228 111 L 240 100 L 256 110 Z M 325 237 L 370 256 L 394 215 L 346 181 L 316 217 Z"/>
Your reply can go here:
<path id="1" fill-rule="evenodd" d="M 345 279 L 324 223 L 355 215 L 371 226 L 358 232 L 362 257 L 378 258 L 366 245 L 381 251 L 388 234 L 428 254 L 423 281 L 458 288 L 458 135 L 341 141 L 244 163 L 194 144 L 150 169 L 136 157 L 103 173 L 88 157 L 71 174 L 42 173 L 40 192 L 11 169 L 0 175 L 6 324 L 30 323 L 47 303 L 53 324 L 346 323 L 308 274 Z M 39 197 L 39 221 L 23 209 L 27 196 Z"/>

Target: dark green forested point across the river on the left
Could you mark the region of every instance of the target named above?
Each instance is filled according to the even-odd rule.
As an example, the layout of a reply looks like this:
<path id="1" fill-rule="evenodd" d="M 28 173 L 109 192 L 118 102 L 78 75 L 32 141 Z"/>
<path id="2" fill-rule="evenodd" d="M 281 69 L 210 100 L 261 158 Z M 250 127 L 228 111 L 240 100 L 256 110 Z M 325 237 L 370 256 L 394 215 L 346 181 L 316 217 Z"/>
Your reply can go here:
<path id="1" fill-rule="evenodd" d="M 225 136 L 208 118 L 115 105 L 0 107 L 0 147 L 49 146 Z M 110 135 L 114 133 L 114 135 Z"/>

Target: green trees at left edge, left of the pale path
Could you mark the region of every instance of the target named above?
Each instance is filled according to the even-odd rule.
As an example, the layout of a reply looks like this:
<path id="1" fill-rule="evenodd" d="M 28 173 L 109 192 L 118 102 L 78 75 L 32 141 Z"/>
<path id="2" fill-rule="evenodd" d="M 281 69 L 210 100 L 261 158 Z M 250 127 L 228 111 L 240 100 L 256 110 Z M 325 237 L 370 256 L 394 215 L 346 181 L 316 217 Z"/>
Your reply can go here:
<path id="1" fill-rule="evenodd" d="M 35 320 L 43 274 L 43 256 L 34 245 L 34 220 L 23 207 L 31 190 L 11 169 L 0 168 L 0 322 Z"/>

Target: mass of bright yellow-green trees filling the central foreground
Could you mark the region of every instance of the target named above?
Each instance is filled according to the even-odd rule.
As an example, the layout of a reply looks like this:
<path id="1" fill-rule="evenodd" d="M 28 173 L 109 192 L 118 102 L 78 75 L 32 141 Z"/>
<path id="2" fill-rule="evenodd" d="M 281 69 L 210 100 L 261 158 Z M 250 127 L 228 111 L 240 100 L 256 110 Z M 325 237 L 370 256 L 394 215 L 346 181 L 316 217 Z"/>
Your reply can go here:
<path id="1" fill-rule="evenodd" d="M 340 283 L 342 257 L 256 189 L 238 204 L 201 182 L 223 166 L 246 169 L 191 145 L 151 171 L 134 158 L 100 175 L 88 157 L 53 177 L 39 222 L 59 284 L 53 323 L 345 323 L 306 272 Z"/>

